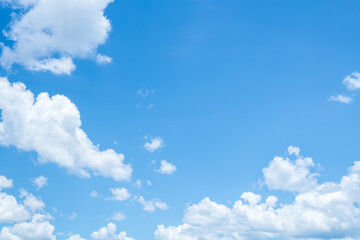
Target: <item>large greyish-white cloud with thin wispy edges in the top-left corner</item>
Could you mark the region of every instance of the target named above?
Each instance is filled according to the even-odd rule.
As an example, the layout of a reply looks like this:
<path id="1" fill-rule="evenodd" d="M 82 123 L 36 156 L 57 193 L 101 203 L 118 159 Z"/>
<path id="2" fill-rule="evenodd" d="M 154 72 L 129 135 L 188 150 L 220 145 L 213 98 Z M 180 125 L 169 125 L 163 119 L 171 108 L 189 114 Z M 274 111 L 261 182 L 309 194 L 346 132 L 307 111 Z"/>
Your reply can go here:
<path id="1" fill-rule="evenodd" d="M 113 0 L 0 0 L 15 9 L 9 30 L 4 31 L 12 48 L 2 44 L 1 65 L 14 64 L 34 71 L 70 74 L 73 58 L 94 58 L 111 62 L 97 55 L 111 30 L 104 9 Z"/>

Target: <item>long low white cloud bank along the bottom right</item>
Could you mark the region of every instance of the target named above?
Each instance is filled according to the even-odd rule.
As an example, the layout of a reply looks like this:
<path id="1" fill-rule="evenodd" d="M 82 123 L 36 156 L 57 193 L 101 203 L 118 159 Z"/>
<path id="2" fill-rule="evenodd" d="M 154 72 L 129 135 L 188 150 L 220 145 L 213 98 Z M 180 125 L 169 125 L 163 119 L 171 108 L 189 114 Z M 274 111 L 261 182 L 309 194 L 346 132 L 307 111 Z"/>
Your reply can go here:
<path id="1" fill-rule="evenodd" d="M 158 240 L 359 239 L 360 162 L 339 183 L 326 182 L 277 204 L 244 193 L 232 207 L 203 199 L 185 211 L 180 226 L 159 225 Z"/>

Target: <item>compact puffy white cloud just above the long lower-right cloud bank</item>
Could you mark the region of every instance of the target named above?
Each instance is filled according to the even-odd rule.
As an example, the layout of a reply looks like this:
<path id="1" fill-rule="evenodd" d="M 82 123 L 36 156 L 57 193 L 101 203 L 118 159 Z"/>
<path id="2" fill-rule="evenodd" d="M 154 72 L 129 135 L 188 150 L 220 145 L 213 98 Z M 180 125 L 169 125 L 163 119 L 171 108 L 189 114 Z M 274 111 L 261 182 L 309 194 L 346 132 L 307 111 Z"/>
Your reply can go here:
<path id="1" fill-rule="evenodd" d="M 263 169 L 265 184 L 272 190 L 303 192 L 317 185 L 316 176 L 310 167 L 311 158 L 298 158 L 295 162 L 288 158 L 275 157 L 267 168 Z"/>

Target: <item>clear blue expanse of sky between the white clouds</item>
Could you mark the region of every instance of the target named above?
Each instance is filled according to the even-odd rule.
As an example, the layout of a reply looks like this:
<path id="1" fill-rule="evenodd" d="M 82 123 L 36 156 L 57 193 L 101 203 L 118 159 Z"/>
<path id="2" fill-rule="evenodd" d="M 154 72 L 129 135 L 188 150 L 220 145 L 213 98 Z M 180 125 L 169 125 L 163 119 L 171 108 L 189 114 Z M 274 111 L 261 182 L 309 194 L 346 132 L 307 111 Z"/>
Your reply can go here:
<path id="1" fill-rule="evenodd" d="M 118 228 L 147 240 L 158 224 L 181 224 L 187 204 L 204 197 L 227 205 L 244 191 L 269 194 L 258 184 L 262 168 L 289 145 L 320 164 L 320 182 L 338 181 L 360 160 L 360 99 L 328 98 L 346 93 L 344 76 L 360 70 L 359 9 L 359 1 L 116 0 L 105 11 L 112 31 L 99 48 L 112 64 L 77 59 L 70 76 L 19 66 L 0 73 L 35 94 L 70 98 L 94 144 L 131 163 L 132 181 L 78 178 L 37 164 L 35 153 L 1 147 L 0 174 L 15 184 L 8 192 L 23 187 L 41 196 L 57 232 L 87 238 L 120 211 L 127 220 Z M 9 14 L 0 9 L 1 29 Z M 142 88 L 154 93 L 142 98 Z M 166 147 L 146 152 L 144 136 L 162 137 Z M 173 175 L 154 171 L 162 159 L 177 166 Z M 30 179 L 39 175 L 49 186 L 36 191 Z M 110 196 L 111 187 L 170 208 L 147 213 L 132 200 L 89 197 L 92 190 Z"/>

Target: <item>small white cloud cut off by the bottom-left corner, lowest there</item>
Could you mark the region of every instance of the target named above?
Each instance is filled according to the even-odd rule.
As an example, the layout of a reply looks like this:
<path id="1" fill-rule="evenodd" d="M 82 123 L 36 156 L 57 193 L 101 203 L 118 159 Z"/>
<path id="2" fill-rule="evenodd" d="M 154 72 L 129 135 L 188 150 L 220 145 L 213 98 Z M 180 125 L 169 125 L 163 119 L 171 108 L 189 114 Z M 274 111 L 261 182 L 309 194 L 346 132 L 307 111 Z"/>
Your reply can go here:
<path id="1" fill-rule="evenodd" d="M 17 223 L 12 227 L 3 227 L 2 240 L 55 240 L 54 226 L 47 221 L 47 216 L 36 214 L 31 222 Z"/>

